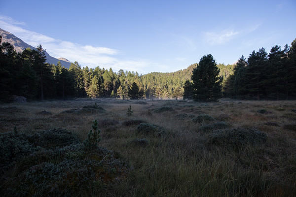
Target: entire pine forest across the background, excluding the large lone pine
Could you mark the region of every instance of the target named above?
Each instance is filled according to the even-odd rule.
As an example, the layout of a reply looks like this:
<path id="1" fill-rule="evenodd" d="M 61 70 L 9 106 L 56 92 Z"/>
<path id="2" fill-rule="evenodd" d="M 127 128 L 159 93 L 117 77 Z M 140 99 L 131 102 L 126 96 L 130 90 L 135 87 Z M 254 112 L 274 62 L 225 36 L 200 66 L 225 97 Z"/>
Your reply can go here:
<path id="1" fill-rule="evenodd" d="M 1 38 L 0 38 L 1 39 Z M 1 40 L 0 40 L 1 43 Z M 138 72 L 111 68 L 68 68 L 46 63 L 44 49 L 16 53 L 10 43 L 0 44 L 0 99 L 11 95 L 35 99 L 121 98 L 190 99 L 186 86 L 192 85 L 192 71 L 198 64 L 176 72 Z M 218 64 L 223 96 L 235 99 L 293 99 L 296 97 L 296 40 L 242 56 L 235 65 Z"/>

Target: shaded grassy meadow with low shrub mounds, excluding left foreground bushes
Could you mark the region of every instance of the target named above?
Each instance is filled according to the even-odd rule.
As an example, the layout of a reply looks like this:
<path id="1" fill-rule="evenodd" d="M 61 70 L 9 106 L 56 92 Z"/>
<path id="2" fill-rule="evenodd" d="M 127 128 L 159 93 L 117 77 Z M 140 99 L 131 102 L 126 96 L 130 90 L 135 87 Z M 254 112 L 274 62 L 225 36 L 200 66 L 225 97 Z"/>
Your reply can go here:
<path id="1" fill-rule="evenodd" d="M 100 108 L 83 108 L 95 103 Z M 126 113 L 129 105 L 133 110 L 130 116 Z M 109 178 L 97 179 L 95 175 L 93 180 L 101 181 L 97 185 L 88 185 L 84 179 L 85 184 L 79 185 L 79 175 L 73 176 L 68 185 L 51 186 L 63 190 L 53 193 L 53 189 L 47 191 L 45 186 L 30 183 L 28 180 L 33 179 L 28 173 L 24 179 L 19 175 L 33 170 L 33 165 L 48 166 L 63 161 L 61 156 L 51 158 L 48 152 L 42 156 L 38 149 L 34 158 L 23 154 L 23 158 L 2 172 L 1 193 L 108 197 L 293 197 L 296 194 L 296 101 L 74 99 L 0 104 L 2 133 L 12 132 L 15 126 L 18 133 L 28 134 L 62 128 L 83 141 L 95 119 L 101 130 L 99 146 L 112 151 L 112 156 L 108 154 L 120 159 L 125 164 L 124 170 L 114 164 L 115 167 L 105 171 L 105 177 Z M 91 154 L 99 160 L 97 171 L 94 170 L 98 172 L 100 161 L 107 159 Z M 71 157 L 77 155 L 79 152 L 73 152 Z M 89 157 L 87 152 L 81 156 L 83 161 Z M 117 170 L 113 178 L 109 174 L 112 170 Z M 40 173 L 36 172 L 38 176 Z M 47 184 L 46 178 L 38 180 Z M 22 181 L 30 188 L 24 193 L 18 191 L 22 190 L 21 186 L 15 189 Z M 78 192 L 66 192 L 71 188 L 69 184 L 80 187 Z"/>

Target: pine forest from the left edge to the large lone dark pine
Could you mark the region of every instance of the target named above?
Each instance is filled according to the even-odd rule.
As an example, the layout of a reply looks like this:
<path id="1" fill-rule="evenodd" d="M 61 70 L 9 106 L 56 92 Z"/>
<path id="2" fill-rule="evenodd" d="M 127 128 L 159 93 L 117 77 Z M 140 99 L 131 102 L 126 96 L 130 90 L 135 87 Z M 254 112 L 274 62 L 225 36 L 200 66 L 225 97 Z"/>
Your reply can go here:
<path id="1" fill-rule="evenodd" d="M 1 41 L 0 41 L 1 43 Z M 10 43 L 0 44 L 0 99 L 7 101 L 11 95 L 27 99 L 67 98 L 182 98 L 183 86 L 190 80 L 197 64 L 176 72 L 137 72 L 110 68 L 88 68 L 72 63 L 68 68 L 46 63 L 42 46 L 37 50 L 25 49 L 16 53 Z M 221 75 L 231 73 L 231 65 L 219 65 Z"/>

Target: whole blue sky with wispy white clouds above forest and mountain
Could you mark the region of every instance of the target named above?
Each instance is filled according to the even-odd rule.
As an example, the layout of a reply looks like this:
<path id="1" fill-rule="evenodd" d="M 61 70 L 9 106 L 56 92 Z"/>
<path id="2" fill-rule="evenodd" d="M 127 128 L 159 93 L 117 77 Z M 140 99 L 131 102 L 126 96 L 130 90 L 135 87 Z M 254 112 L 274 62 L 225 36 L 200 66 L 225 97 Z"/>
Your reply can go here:
<path id="1" fill-rule="evenodd" d="M 296 38 L 295 0 L 0 0 L 0 28 L 82 67 L 172 72 Z"/>

